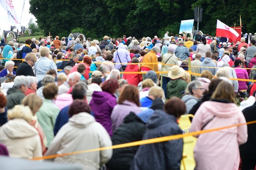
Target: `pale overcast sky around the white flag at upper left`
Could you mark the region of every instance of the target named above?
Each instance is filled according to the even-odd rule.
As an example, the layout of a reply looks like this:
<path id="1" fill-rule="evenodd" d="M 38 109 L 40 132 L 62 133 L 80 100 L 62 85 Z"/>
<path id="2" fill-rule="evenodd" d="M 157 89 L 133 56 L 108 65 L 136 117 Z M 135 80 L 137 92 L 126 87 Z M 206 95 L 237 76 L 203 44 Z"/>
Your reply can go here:
<path id="1" fill-rule="evenodd" d="M 16 14 L 20 18 L 23 0 L 12 0 L 12 2 L 15 7 Z M 29 6 L 29 0 L 26 0 L 21 18 L 21 26 L 25 26 L 26 28 L 28 27 L 28 22 L 30 18 L 33 18 L 33 22 L 36 22 L 36 18 L 34 17 L 34 15 L 29 13 Z M 3 9 L 1 5 L 0 11 L 0 37 L 2 37 L 3 30 L 8 31 L 11 29 L 11 26 L 15 25 L 9 21 L 7 12 Z"/>

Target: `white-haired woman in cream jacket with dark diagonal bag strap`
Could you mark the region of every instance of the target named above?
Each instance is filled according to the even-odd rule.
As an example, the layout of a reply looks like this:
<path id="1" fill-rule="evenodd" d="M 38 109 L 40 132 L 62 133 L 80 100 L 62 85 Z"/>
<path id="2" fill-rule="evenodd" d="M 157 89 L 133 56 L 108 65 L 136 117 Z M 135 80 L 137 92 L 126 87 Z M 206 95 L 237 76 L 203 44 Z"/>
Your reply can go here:
<path id="1" fill-rule="evenodd" d="M 172 65 L 178 65 L 178 58 L 176 57 L 174 52 L 175 52 L 175 47 L 173 45 L 169 45 L 168 46 L 168 53 L 166 53 L 163 56 L 163 61 L 162 62 L 166 65 L 163 66 L 162 71 L 170 71 L 171 68 L 172 68 Z M 166 85 L 171 79 L 168 77 L 168 73 L 162 73 L 162 74 L 163 74 L 162 87 L 164 89 L 165 97 L 167 97 Z"/>

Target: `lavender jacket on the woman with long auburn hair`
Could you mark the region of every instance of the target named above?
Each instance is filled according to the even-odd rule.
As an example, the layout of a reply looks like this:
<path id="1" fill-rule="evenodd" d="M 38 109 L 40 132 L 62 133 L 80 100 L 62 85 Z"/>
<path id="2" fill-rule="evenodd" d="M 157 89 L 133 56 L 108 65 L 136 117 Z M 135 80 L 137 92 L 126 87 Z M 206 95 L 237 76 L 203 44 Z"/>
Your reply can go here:
<path id="1" fill-rule="evenodd" d="M 114 107 L 111 114 L 113 132 L 115 132 L 115 130 L 123 123 L 123 120 L 130 114 L 130 112 L 138 114 L 142 112 L 142 110 L 135 103 L 128 100 L 125 100 L 123 104 L 118 104 Z"/>

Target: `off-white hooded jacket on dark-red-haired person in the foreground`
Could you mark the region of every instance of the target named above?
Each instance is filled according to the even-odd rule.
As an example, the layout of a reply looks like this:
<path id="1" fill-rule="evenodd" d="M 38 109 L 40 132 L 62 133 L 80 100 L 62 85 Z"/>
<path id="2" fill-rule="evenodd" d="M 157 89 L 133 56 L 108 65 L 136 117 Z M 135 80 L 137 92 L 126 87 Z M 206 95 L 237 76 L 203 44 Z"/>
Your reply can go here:
<path id="1" fill-rule="evenodd" d="M 112 146 L 105 128 L 89 113 L 73 115 L 53 139 L 46 155 L 64 154 L 100 147 Z M 55 162 L 78 164 L 84 170 L 99 170 L 112 157 L 112 149 L 57 157 Z"/>

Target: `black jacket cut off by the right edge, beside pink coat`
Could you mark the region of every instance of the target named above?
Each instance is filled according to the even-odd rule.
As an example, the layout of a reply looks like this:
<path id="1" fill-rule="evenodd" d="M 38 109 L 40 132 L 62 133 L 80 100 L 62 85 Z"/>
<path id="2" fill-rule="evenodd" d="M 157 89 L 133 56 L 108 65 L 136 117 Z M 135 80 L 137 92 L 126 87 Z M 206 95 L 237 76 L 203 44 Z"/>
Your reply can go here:
<path id="1" fill-rule="evenodd" d="M 245 120 L 254 121 L 256 120 L 256 102 L 250 106 L 245 108 L 242 112 L 245 115 Z M 256 160 L 256 124 L 247 125 L 248 130 L 248 139 L 245 144 L 239 146 L 240 157 L 242 159 L 254 159 Z"/>

